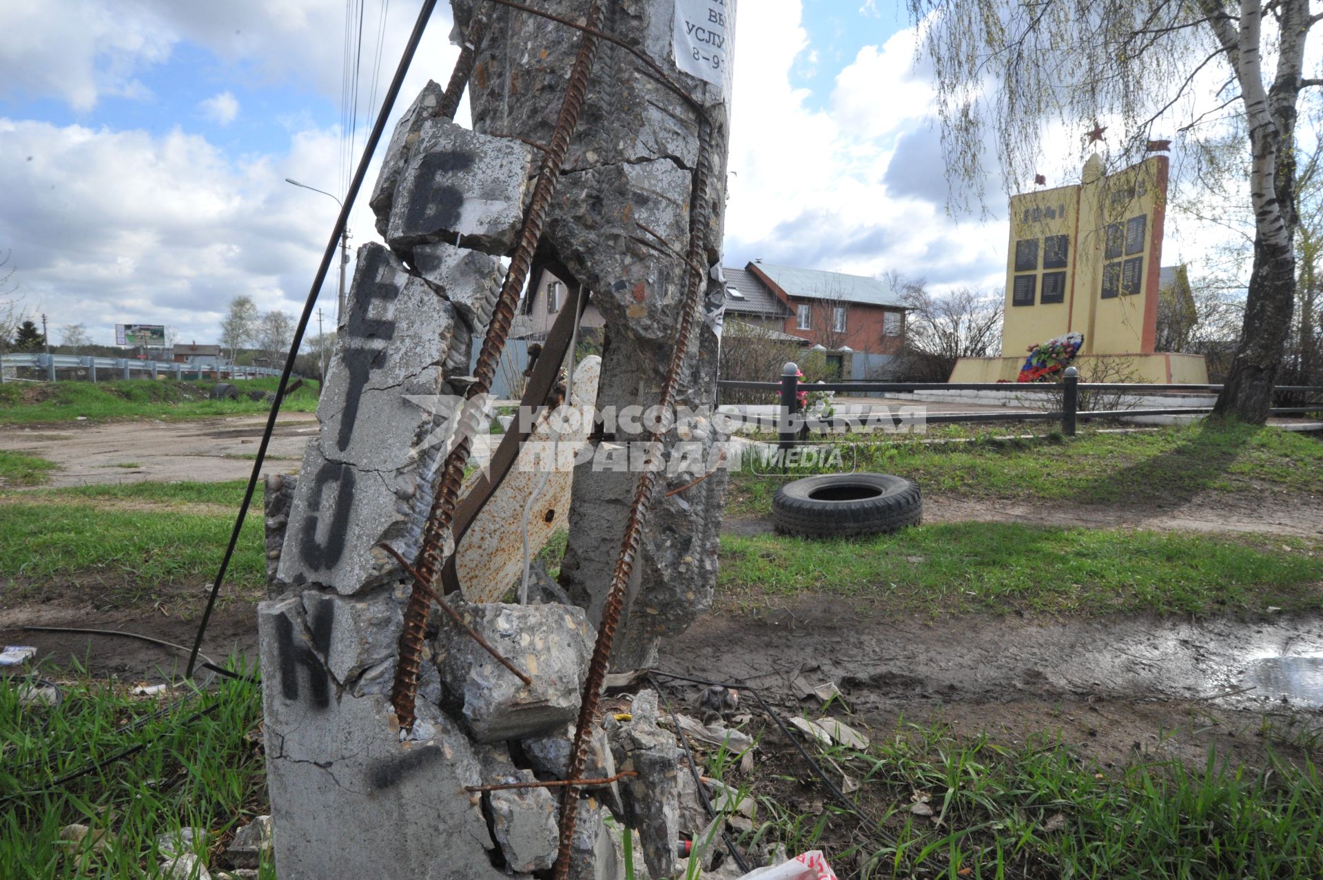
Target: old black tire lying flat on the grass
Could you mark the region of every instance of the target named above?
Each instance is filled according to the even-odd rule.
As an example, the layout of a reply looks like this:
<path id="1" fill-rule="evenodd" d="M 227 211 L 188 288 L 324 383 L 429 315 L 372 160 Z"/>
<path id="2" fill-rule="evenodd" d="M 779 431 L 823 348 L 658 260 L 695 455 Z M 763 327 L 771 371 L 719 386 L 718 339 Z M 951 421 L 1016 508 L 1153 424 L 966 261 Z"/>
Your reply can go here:
<path id="1" fill-rule="evenodd" d="M 894 532 L 923 520 L 918 484 L 890 474 L 826 474 L 786 483 L 771 502 L 777 531 L 804 537 Z"/>

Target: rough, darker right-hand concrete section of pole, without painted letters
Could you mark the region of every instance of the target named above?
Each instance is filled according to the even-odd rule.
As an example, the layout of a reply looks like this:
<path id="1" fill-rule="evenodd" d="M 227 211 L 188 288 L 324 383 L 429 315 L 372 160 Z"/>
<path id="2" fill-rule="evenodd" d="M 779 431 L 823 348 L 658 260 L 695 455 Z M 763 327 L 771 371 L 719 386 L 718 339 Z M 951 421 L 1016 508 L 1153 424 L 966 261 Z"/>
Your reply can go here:
<path id="1" fill-rule="evenodd" d="M 455 0 L 456 33 L 463 33 L 474 0 Z M 589 0 L 566 0 L 557 13 L 582 20 Z M 673 58 L 676 4 L 623 0 L 611 11 L 611 32 L 663 62 Z M 733 16 L 734 4 L 725 4 Z M 565 77 L 577 48 L 562 25 L 507 8 L 487 9 L 491 33 L 470 90 L 474 127 L 546 143 L 556 123 Z M 517 46 L 517 50 L 508 48 Z M 729 60 L 728 60 L 729 61 Z M 693 168 L 699 160 L 699 120 L 683 98 L 636 73 L 624 49 L 603 44 L 594 67 L 579 135 L 572 142 L 565 172 L 548 220 L 544 247 L 593 292 L 606 319 L 598 408 L 652 406 L 675 345 L 676 308 L 683 296 L 684 261 L 692 216 Z M 706 262 L 720 265 L 728 139 L 726 95 L 720 86 L 672 71 L 672 78 L 706 110 L 712 206 L 705 230 Z M 646 228 L 646 229 L 644 229 Z M 568 279 L 569 281 L 569 279 Z M 705 292 L 720 294 L 708 281 Z M 691 410 L 714 402 L 720 340 L 712 326 L 695 335 L 681 373 L 677 402 Z M 701 437 L 700 437 L 701 435 Z M 644 439 L 618 430 L 602 442 Z M 700 425 L 697 474 L 668 474 L 667 490 L 680 488 L 710 470 L 712 445 L 721 437 Z M 680 431 L 665 439 L 665 458 L 676 462 Z M 647 666 L 662 638 L 684 630 L 712 601 L 716 550 L 726 472 L 681 494 L 655 500 L 644 529 L 635 582 L 614 647 L 617 668 Z M 638 474 L 593 472 L 581 464 L 570 502 L 569 549 L 561 584 L 598 622 L 620 547 L 626 511 Z"/>

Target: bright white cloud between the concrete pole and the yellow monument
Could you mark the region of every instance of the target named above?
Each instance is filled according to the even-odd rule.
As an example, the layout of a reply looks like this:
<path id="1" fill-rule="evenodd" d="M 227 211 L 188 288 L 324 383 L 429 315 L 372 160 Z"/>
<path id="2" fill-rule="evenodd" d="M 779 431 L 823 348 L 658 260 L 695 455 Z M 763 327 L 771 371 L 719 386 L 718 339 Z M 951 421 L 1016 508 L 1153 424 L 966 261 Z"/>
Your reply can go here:
<path id="1" fill-rule="evenodd" d="M 766 0 L 759 13 L 740 21 L 726 262 L 761 257 L 863 275 L 894 269 L 938 287 L 999 285 L 1004 226 L 945 213 L 945 168 L 927 130 L 931 87 L 913 70 L 913 30 L 863 48 L 818 110 L 790 85 L 796 60 L 814 52 L 800 0 Z M 897 157 L 921 164 L 901 168 Z"/>

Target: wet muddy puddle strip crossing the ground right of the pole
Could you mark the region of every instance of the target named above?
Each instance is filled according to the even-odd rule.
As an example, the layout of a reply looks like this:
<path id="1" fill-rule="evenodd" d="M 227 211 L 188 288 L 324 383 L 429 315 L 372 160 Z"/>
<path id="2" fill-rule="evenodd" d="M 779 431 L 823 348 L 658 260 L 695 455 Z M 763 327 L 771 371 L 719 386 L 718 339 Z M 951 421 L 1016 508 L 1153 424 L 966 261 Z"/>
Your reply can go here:
<path id="1" fill-rule="evenodd" d="M 663 648 L 677 671 L 792 689 L 833 680 L 878 709 L 1037 697 L 1323 705 L 1323 618 L 869 621 L 840 601 L 709 615 Z"/>

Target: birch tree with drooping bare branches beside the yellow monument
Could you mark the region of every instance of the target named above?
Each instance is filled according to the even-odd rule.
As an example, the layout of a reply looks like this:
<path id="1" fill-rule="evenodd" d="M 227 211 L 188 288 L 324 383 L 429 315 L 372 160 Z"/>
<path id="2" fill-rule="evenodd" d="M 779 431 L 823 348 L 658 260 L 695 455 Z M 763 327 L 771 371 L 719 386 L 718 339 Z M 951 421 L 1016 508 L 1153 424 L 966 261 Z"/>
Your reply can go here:
<path id="1" fill-rule="evenodd" d="M 908 0 L 938 81 L 953 189 L 982 197 L 980 157 L 995 130 L 1008 181 L 1028 180 L 1049 123 L 1111 131 L 1134 160 L 1155 126 L 1196 142 L 1240 132 L 1249 161 L 1253 267 L 1240 345 L 1216 413 L 1262 423 L 1295 299 L 1294 142 L 1310 29 L 1308 0 Z M 1211 78 L 1221 89 L 1208 97 Z M 1220 103 L 1216 103 L 1220 102 Z M 1177 119 L 1179 116 L 1179 119 Z M 1175 120 L 1175 122 L 1174 122 Z"/>

